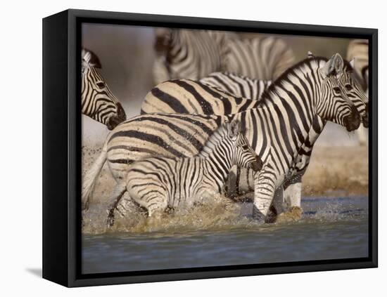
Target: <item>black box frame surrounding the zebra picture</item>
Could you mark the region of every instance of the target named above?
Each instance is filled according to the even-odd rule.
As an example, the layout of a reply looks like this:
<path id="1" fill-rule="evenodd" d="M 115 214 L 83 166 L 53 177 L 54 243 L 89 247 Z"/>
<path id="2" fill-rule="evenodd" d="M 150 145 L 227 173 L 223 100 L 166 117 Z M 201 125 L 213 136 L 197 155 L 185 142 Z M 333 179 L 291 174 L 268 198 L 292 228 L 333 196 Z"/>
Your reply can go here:
<path id="1" fill-rule="evenodd" d="M 82 22 L 220 29 L 369 40 L 369 256 L 339 260 L 181 268 L 82 275 L 80 51 Z M 63 286 L 94 286 L 291 272 L 376 268 L 378 265 L 378 31 L 355 27 L 252 22 L 170 15 L 67 10 L 43 20 L 43 277 Z"/>

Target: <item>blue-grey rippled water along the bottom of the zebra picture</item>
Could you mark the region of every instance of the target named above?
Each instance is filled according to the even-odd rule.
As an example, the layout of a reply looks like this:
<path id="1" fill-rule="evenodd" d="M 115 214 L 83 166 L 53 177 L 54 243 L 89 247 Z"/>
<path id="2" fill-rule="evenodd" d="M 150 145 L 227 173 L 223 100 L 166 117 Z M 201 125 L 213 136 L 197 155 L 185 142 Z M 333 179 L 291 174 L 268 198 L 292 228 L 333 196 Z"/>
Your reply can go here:
<path id="1" fill-rule="evenodd" d="M 303 219 L 296 223 L 258 225 L 246 216 L 250 208 L 244 204 L 232 212 L 237 216 L 216 220 L 202 209 L 202 217 L 185 214 L 157 228 L 83 235 L 82 272 L 368 256 L 366 197 L 303 198 Z"/>

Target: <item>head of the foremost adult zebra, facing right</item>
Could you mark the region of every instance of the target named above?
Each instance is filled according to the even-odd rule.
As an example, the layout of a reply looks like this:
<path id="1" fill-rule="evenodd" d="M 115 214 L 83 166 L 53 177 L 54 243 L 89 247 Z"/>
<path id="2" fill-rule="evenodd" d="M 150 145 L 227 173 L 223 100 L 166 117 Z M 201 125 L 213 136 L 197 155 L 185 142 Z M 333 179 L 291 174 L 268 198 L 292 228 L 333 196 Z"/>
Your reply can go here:
<path id="1" fill-rule="evenodd" d="M 319 69 L 322 97 L 316 105 L 317 114 L 322 119 L 345 126 L 347 131 L 353 131 L 359 128 L 361 117 L 341 84 L 340 79 L 343 75 L 345 75 L 344 61 L 338 53 Z M 350 86 L 354 86 L 353 83 Z"/>

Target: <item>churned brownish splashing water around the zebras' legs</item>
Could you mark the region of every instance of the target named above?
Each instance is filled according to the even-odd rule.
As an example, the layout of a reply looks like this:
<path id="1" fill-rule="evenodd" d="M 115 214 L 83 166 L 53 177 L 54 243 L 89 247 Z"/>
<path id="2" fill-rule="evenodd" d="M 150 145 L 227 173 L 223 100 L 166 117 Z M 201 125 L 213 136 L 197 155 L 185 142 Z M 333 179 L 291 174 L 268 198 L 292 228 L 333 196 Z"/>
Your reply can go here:
<path id="1" fill-rule="evenodd" d="M 130 232 L 194 232 L 197 230 L 236 230 L 253 229 L 259 232 L 274 230 L 289 224 L 309 224 L 339 222 L 345 220 L 363 220 L 367 217 L 366 197 L 325 198 L 313 197 L 303 199 L 303 214 L 298 222 L 281 220 L 274 224 L 261 225 L 251 217 L 252 204 L 236 204 L 219 196 L 210 202 L 191 209 L 178 209 L 173 213 L 164 213 L 160 218 L 148 218 L 146 211 L 133 211 L 121 217 L 115 211 L 115 225 L 106 227 L 107 206 L 95 204 L 84 213 L 84 234 Z M 273 229 L 274 228 L 274 229 Z"/>

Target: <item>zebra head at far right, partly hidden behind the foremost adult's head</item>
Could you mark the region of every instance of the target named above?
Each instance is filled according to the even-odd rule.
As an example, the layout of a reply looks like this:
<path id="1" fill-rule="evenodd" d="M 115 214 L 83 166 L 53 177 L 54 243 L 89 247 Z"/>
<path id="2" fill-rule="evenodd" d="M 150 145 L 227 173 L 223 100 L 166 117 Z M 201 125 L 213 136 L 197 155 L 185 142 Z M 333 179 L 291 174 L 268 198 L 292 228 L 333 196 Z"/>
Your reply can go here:
<path id="1" fill-rule="evenodd" d="M 355 59 L 350 62 L 344 62 L 344 72 L 341 75 L 339 82 L 341 88 L 345 91 L 348 98 L 353 102 L 357 111 L 362 117 L 362 124 L 365 128 L 368 128 L 368 97 L 364 93 L 364 90 L 356 79 L 356 72 L 354 70 Z"/>

